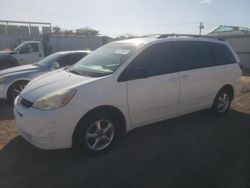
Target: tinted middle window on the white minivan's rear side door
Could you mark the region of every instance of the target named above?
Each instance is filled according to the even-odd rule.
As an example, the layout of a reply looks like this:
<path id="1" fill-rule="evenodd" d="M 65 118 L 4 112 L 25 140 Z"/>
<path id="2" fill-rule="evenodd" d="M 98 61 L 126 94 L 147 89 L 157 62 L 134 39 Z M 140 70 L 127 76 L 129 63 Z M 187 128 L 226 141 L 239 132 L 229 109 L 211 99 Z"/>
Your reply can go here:
<path id="1" fill-rule="evenodd" d="M 174 42 L 174 57 L 179 71 L 209 67 L 213 65 L 207 42 Z"/>

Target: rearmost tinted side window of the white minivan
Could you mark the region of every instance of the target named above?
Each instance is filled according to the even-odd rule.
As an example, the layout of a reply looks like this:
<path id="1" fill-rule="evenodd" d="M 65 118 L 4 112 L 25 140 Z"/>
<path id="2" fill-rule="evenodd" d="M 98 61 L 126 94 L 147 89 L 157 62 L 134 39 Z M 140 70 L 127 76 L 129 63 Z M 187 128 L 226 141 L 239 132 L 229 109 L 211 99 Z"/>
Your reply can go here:
<path id="1" fill-rule="evenodd" d="M 236 59 L 229 48 L 224 44 L 209 43 L 209 48 L 215 60 L 215 65 L 236 63 Z"/>

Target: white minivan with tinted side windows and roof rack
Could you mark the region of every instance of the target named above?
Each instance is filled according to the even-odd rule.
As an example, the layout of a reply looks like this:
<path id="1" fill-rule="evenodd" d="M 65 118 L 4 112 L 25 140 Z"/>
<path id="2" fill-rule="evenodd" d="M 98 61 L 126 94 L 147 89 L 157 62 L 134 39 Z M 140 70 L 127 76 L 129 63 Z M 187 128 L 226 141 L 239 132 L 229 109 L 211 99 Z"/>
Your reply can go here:
<path id="1" fill-rule="evenodd" d="M 156 35 L 109 43 L 31 81 L 15 101 L 20 134 L 35 146 L 108 150 L 126 131 L 211 108 L 225 114 L 242 70 L 228 43 Z"/>

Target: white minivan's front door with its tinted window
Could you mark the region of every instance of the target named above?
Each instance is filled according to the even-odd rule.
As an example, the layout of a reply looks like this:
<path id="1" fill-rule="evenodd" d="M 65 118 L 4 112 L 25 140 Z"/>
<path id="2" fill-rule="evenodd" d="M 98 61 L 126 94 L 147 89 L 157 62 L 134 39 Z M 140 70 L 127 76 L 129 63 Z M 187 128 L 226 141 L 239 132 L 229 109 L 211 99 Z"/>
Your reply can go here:
<path id="1" fill-rule="evenodd" d="M 127 81 L 132 125 L 159 121 L 177 113 L 180 81 L 173 70 L 170 43 L 147 47 L 127 69 L 146 70 L 148 74 L 146 78 Z"/>

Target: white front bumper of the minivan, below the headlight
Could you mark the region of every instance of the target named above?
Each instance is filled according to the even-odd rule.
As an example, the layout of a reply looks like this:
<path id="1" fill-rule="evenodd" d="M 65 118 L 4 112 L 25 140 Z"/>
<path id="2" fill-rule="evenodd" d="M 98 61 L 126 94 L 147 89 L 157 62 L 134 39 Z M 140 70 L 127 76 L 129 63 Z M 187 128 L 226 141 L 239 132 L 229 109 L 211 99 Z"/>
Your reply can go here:
<path id="1" fill-rule="evenodd" d="M 87 109 L 67 104 L 55 110 L 26 108 L 15 100 L 14 115 L 20 134 L 42 149 L 61 149 L 72 146 L 72 136 Z"/>

